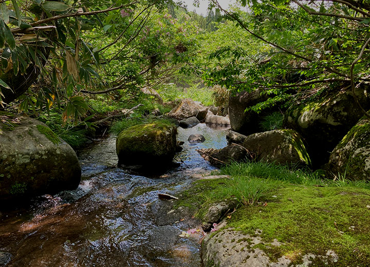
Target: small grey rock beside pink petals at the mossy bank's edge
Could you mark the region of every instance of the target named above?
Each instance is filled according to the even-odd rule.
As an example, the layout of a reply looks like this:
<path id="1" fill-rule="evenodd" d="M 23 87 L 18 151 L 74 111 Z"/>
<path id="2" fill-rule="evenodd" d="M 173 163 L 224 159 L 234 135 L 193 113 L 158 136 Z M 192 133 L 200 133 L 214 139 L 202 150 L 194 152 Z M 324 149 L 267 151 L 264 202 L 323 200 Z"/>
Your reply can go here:
<path id="1" fill-rule="evenodd" d="M 228 200 L 211 205 L 203 218 L 203 230 L 210 231 L 212 224 L 218 223 L 228 212 L 232 212 L 236 207 L 236 203 L 236 201 Z"/>

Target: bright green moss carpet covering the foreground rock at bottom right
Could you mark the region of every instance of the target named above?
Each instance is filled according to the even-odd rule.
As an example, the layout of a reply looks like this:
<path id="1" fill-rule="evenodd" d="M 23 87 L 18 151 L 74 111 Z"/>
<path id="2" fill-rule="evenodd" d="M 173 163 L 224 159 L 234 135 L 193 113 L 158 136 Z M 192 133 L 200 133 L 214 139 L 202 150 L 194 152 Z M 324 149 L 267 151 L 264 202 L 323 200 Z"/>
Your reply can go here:
<path id="1" fill-rule="evenodd" d="M 258 246 L 272 260 L 286 256 L 299 263 L 305 254 L 325 255 L 332 250 L 339 255 L 336 266 L 367 264 L 369 190 L 289 186 L 274 194 L 279 200 L 270 198 L 267 206 L 238 209 L 229 226 L 251 235 L 261 229 L 265 244 L 275 238 L 282 242 L 279 247 Z"/>

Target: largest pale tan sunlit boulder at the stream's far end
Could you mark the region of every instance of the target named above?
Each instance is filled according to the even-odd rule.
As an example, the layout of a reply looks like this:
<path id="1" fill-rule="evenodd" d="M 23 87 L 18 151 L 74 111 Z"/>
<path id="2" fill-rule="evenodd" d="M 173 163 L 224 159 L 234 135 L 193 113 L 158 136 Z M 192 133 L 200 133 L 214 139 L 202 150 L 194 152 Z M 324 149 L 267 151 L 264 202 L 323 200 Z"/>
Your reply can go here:
<path id="1" fill-rule="evenodd" d="M 207 107 L 201 106 L 191 99 L 182 99 L 181 102 L 168 113 L 168 116 L 177 120 L 196 117 L 201 121 L 206 118 L 207 112 Z"/>

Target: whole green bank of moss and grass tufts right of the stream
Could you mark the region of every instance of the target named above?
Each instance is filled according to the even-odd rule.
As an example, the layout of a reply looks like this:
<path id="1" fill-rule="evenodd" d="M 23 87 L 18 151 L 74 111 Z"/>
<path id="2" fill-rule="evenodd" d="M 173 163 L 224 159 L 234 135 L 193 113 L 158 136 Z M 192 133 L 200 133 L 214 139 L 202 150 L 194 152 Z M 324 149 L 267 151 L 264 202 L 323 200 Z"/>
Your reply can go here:
<path id="1" fill-rule="evenodd" d="M 302 263 L 307 254 L 335 251 L 335 266 L 366 266 L 370 259 L 370 185 L 342 178 L 325 180 L 317 171 L 291 170 L 266 163 L 234 163 L 220 174 L 231 178 L 198 180 L 180 196 L 177 206 L 189 206 L 202 219 L 216 202 L 236 198 L 237 211 L 227 227 L 254 235 L 257 247 L 274 261 L 282 256 Z M 274 239 L 281 246 L 269 246 Z M 320 259 L 312 266 L 323 266 Z M 328 263 L 331 266 L 331 263 Z"/>

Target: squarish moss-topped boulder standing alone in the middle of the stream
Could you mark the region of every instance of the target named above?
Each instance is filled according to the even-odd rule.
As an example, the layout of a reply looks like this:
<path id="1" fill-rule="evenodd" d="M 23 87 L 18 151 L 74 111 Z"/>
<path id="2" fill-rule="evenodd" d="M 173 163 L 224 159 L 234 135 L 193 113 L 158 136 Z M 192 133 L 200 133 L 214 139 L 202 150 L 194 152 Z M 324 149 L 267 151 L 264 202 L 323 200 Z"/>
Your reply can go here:
<path id="1" fill-rule="evenodd" d="M 139 124 L 120 132 L 116 140 L 119 164 L 155 165 L 171 162 L 177 128 L 167 121 Z"/>

